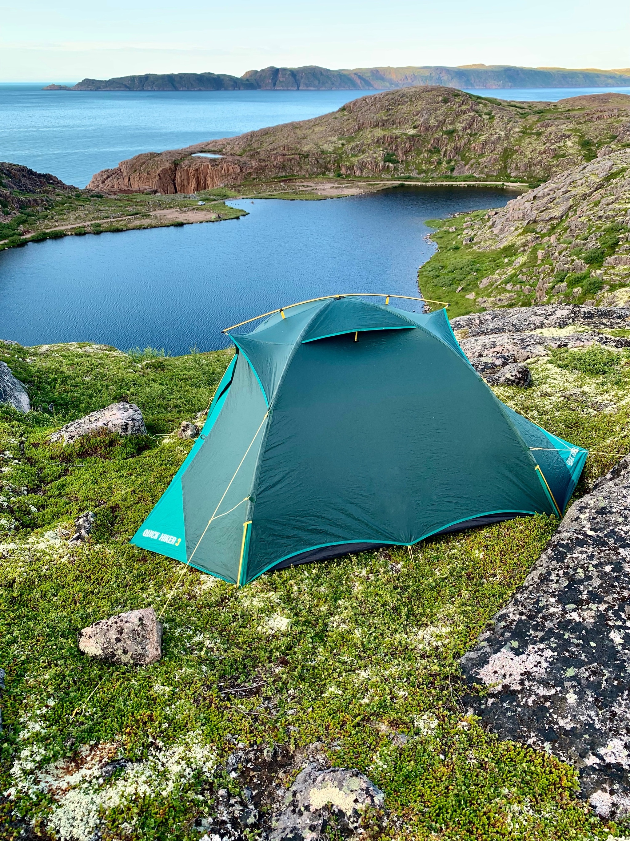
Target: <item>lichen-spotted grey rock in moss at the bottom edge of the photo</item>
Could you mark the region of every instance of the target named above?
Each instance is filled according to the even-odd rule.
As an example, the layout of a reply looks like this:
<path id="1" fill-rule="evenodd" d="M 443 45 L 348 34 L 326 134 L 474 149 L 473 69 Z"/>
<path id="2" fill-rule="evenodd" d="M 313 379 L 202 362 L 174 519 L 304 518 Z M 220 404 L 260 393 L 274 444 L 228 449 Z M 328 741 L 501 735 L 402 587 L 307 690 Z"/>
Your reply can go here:
<path id="1" fill-rule="evenodd" d="M 365 809 L 381 807 L 384 799 L 381 789 L 358 770 L 321 770 L 309 764 L 291 785 L 270 841 L 318 841 L 331 822 L 347 837 L 360 828 Z"/>

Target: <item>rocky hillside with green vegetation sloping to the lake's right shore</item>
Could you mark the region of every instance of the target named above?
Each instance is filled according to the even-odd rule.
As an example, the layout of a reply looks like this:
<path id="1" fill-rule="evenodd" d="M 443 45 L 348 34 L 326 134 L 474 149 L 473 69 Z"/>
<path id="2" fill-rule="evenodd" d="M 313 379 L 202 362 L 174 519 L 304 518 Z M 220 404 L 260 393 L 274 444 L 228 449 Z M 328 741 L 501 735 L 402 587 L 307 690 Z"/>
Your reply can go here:
<path id="1" fill-rule="evenodd" d="M 627 306 L 630 150 L 561 173 L 500 210 L 430 222 L 438 252 L 418 272 L 449 315 L 531 304 Z"/>

